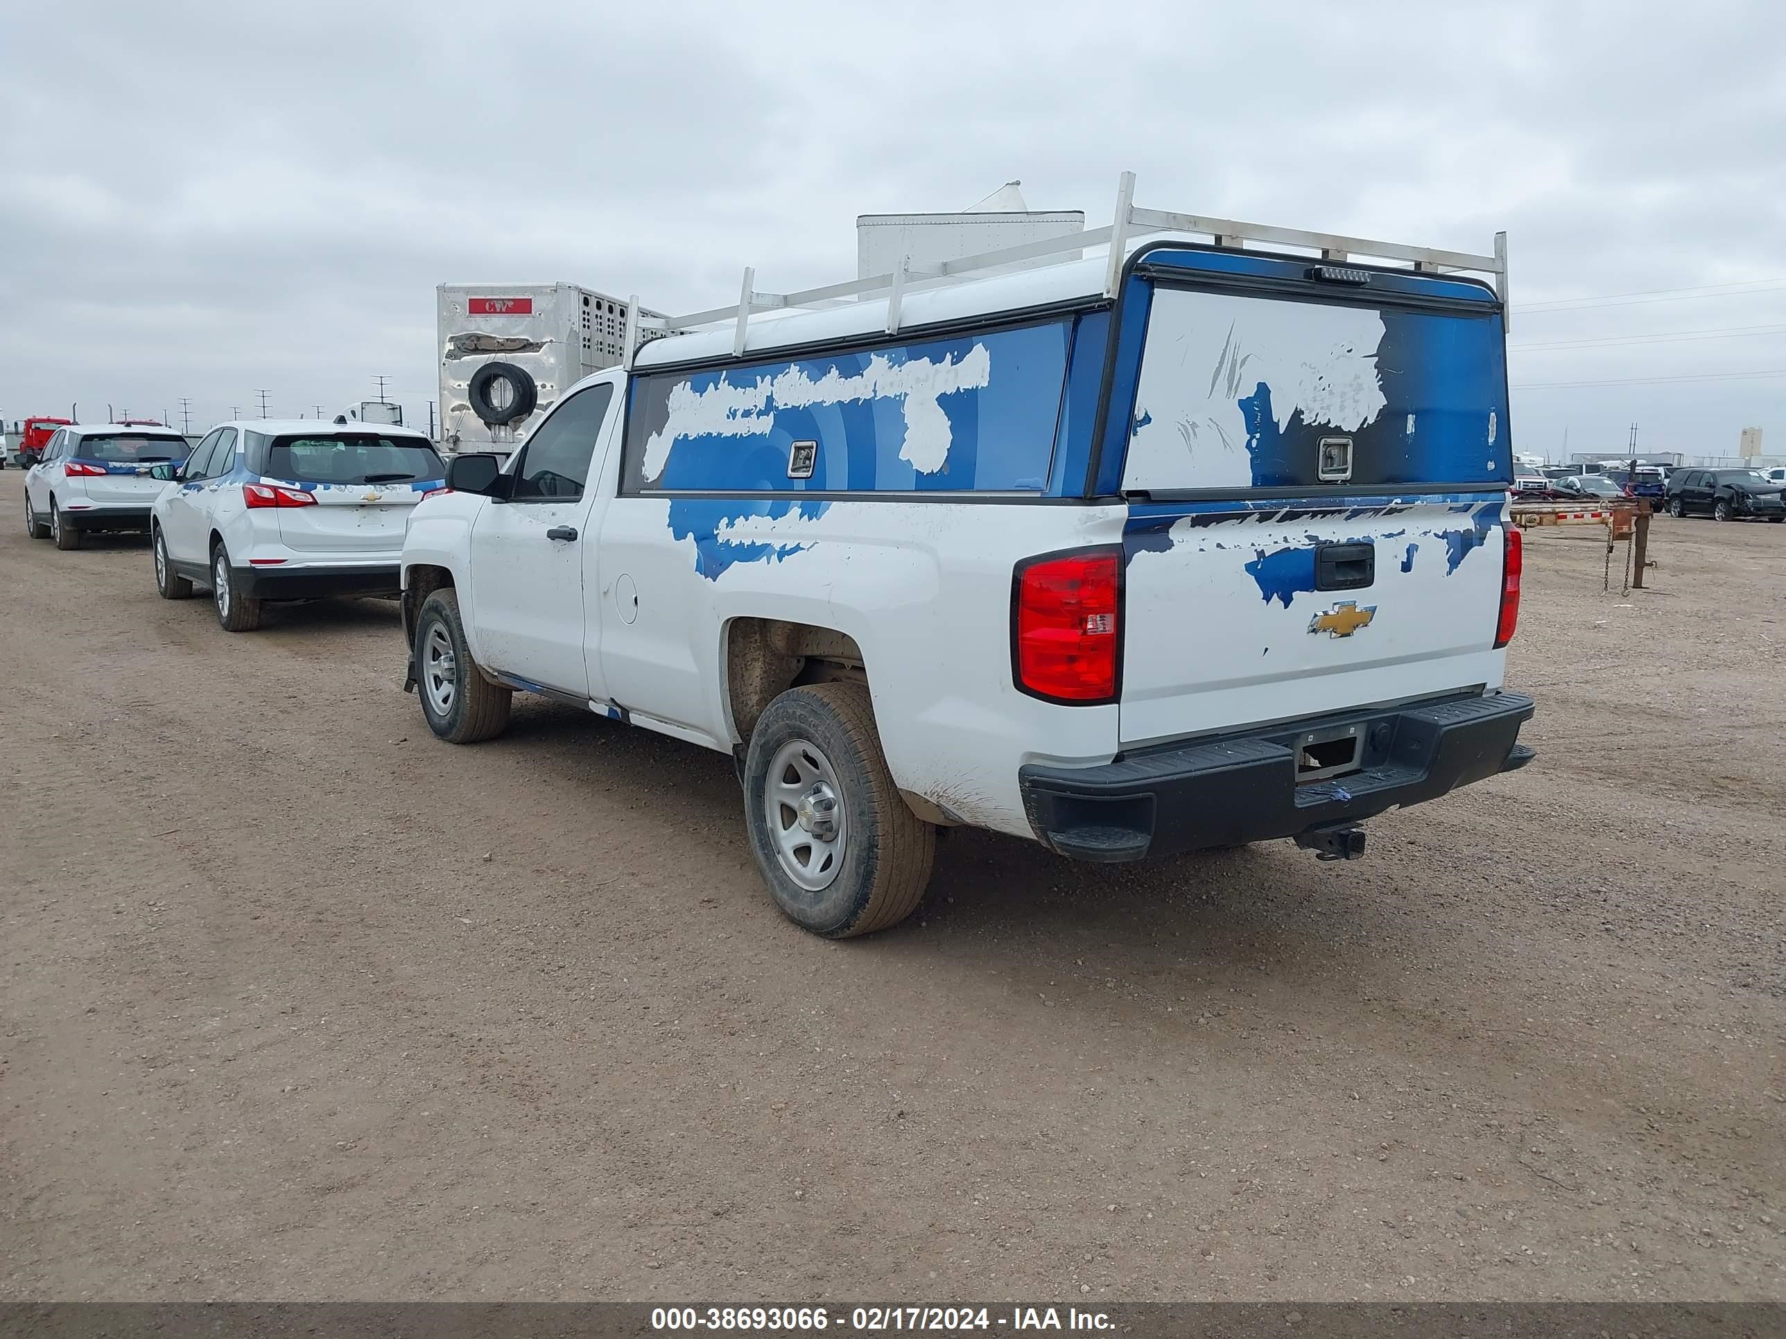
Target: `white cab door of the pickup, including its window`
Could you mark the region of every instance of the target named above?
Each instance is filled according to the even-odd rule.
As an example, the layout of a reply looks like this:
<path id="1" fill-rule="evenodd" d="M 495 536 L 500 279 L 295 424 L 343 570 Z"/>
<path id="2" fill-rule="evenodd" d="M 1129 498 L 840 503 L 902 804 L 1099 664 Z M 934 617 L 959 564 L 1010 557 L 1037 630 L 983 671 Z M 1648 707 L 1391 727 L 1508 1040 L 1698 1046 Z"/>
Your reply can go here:
<path id="1" fill-rule="evenodd" d="M 597 537 L 589 480 L 618 377 L 554 405 L 516 452 L 507 496 L 472 523 L 479 661 L 523 687 L 579 702 L 600 696 L 600 664 L 584 655 L 584 568 L 593 566 Z"/>

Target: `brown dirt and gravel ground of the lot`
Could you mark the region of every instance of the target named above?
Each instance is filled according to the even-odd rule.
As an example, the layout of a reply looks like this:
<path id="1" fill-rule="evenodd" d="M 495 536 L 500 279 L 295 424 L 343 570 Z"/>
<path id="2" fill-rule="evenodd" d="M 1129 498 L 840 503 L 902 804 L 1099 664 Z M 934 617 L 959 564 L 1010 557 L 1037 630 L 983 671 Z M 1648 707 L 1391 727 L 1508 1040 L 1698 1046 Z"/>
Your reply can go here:
<path id="1" fill-rule="evenodd" d="M 832 944 L 725 757 L 450 748 L 395 605 L 229 636 L 20 498 L 0 1296 L 1786 1296 L 1786 527 L 1534 534 L 1538 762 L 1365 861 L 957 832 Z"/>

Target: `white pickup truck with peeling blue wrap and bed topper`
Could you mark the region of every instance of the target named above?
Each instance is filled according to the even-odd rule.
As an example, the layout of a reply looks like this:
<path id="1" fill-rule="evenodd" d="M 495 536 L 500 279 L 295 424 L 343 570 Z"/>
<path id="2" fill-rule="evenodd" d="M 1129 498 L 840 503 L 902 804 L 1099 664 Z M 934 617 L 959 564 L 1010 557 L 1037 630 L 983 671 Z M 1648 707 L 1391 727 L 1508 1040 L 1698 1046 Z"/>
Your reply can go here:
<path id="1" fill-rule="evenodd" d="M 913 911 L 938 825 L 1341 859 L 1361 819 L 1531 761 L 1504 302 L 1456 273 L 1504 282 L 1504 245 L 1127 191 L 1061 246 L 1102 241 L 747 275 L 736 309 L 629 332 L 507 461 L 454 459 L 402 557 L 434 734 L 486 739 L 527 691 L 732 753 L 764 882 L 832 937 Z"/>

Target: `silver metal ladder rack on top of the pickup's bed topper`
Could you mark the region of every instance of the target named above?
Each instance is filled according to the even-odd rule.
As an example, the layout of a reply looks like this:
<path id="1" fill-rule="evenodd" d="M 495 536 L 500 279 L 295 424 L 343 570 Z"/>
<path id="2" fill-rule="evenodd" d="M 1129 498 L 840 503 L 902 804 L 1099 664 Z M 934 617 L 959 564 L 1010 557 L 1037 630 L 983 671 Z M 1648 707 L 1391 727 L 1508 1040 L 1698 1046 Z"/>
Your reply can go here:
<path id="1" fill-rule="evenodd" d="M 1206 214 L 1179 214 L 1164 209 L 1141 209 L 1134 204 L 1134 173 L 1125 171 L 1116 186 L 1116 209 L 1113 221 L 1102 229 L 1068 232 L 1059 237 L 1023 243 L 1022 246 L 1004 246 L 995 252 L 964 255 L 957 261 L 920 266 L 904 257 L 902 262 L 884 273 L 868 279 L 847 280 L 843 284 L 823 284 L 798 293 L 757 293 L 752 284 L 754 270 L 745 270 L 739 300 L 729 307 L 709 307 L 707 311 L 688 312 L 684 316 L 645 318 L 647 329 L 654 334 L 677 334 L 700 327 L 732 323 L 732 352 L 743 355 L 748 343 L 750 318 L 759 312 L 784 311 L 788 307 L 823 309 L 848 305 L 852 298 L 870 293 L 888 293 L 888 332 L 897 332 L 900 325 L 900 304 L 911 293 L 929 287 L 959 284 L 972 277 L 984 277 L 989 270 L 1034 261 L 1063 252 L 1082 254 L 1093 246 L 1109 248 L 1109 266 L 1104 279 L 1104 295 L 1114 296 L 1122 282 L 1122 268 L 1127 259 L 1129 241 L 1154 232 L 1189 232 L 1211 237 L 1218 246 L 1245 248 L 1247 243 L 1264 243 L 1270 246 L 1297 246 L 1316 252 L 1323 262 L 1343 264 L 1352 259 L 1400 261 L 1415 268 L 1416 273 L 1479 273 L 1493 275 L 1495 293 L 1502 311 L 1507 304 L 1507 234 L 1495 234 L 1493 255 L 1475 255 L 1472 252 L 1450 252 L 1438 246 L 1409 246 L 1398 241 L 1373 241 L 1370 237 L 1348 237 L 1332 232 L 1307 232 L 1304 229 L 1279 229 L 1264 223 L 1241 223 L 1231 218 L 1209 218 Z M 634 304 L 636 311 L 636 304 Z M 627 339 L 629 348 L 634 339 Z"/>

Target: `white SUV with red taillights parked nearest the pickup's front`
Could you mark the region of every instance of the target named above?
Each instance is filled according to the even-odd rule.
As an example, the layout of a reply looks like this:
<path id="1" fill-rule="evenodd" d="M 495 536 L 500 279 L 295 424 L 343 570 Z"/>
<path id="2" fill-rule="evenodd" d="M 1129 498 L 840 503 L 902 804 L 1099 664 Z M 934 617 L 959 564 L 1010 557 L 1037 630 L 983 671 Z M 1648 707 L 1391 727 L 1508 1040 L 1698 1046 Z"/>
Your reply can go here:
<path id="1" fill-rule="evenodd" d="M 268 600 L 396 596 L 409 512 L 446 466 L 414 428 L 248 420 L 155 473 L 155 587 L 184 600 L 209 586 L 218 621 L 246 632 Z"/>

